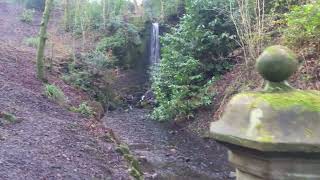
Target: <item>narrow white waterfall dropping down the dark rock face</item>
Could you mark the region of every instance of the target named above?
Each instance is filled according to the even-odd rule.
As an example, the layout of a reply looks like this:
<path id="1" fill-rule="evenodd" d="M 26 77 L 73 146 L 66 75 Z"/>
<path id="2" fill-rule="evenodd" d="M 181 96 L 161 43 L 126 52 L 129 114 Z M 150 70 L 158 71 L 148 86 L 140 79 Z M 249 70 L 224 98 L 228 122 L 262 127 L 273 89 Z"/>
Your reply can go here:
<path id="1" fill-rule="evenodd" d="M 152 23 L 152 34 L 150 44 L 150 65 L 155 65 L 160 62 L 160 37 L 159 23 Z"/>

